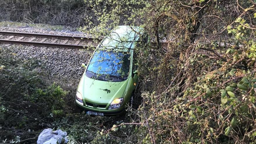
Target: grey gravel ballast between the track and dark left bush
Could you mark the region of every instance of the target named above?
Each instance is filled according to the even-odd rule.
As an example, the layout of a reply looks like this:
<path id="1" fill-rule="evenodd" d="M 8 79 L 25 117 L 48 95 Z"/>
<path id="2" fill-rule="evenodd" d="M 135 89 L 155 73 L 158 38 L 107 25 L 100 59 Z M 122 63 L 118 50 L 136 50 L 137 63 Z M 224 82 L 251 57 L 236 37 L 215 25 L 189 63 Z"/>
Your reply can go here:
<path id="1" fill-rule="evenodd" d="M 66 78 L 81 78 L 84 68 L 82 63 L 88 63 L 93 50 L 79 50 L 53 47 L 31 47 L 24 45 L 0 44 L 0 47 L 10 49 L 22 59 L 34 58 L 41 62 L 41 65 L 46 66 L 45 69 L 52 76 L 62 76 Z M 70 50 L 70 49 L 69 49 Z"/>

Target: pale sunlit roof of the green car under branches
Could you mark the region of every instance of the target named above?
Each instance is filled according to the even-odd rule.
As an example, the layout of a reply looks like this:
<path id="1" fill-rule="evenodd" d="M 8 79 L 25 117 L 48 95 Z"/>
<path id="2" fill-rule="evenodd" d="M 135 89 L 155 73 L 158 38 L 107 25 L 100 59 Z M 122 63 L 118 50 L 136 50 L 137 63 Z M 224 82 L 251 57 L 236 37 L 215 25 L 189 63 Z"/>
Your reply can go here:
<path id="1" fill-rule="evenodd" d="M 102 40 L 99 49 L 129 52 L 142 33 L 143 28 L 138 26 L 117 26 Z"/>

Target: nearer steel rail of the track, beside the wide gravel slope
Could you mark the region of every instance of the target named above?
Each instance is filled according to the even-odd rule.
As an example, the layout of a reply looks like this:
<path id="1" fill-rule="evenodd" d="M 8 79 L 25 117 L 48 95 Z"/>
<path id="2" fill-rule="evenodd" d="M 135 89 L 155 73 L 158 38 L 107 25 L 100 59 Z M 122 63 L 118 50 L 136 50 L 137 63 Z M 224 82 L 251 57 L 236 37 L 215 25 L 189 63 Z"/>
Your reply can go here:
<path id="1" fill-rule="evenodd" d="M 17 45 L 35 45 L 35 46 L 43 46 L 43 47 L 63 47 L 68 49 L 84 49 L 88 47 L 88 46 L 82 46 L 82 45 L 55 44 L 55 43 L 45 43 L 45 42 L 28 42 L 28 41 L 3 40 L 3 39 L 0 39 L 0 43 L 17 44 Z"/>

